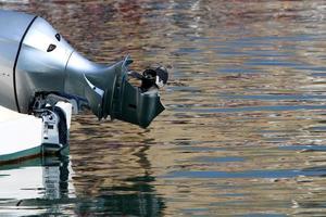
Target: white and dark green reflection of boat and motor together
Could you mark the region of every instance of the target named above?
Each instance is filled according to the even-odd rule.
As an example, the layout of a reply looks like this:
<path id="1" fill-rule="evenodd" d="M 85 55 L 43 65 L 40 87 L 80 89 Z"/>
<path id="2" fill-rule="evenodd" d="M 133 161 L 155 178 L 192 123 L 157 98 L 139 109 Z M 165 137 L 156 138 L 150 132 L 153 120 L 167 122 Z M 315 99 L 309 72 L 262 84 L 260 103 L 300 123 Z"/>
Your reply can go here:
<path id="1" fill-rule="evenodd" d="M 1 216 L 60 215 L 67 212 L 68 206 L 74 207 L 77 216 L 161 216 L 165 207 L 164 200 L 151 184 L 155 178 L 150 175 L 129 177 L 124 181 L 131 186 L 105 187 L 99 195 L 90 197 L 75 189 L 72 171 L 65 157 L 34 158 L 0 166 L 0 186 L 5 186 L 0 191 L 0 208 L 11 207 L 8 214 L 0 212 Z"/>

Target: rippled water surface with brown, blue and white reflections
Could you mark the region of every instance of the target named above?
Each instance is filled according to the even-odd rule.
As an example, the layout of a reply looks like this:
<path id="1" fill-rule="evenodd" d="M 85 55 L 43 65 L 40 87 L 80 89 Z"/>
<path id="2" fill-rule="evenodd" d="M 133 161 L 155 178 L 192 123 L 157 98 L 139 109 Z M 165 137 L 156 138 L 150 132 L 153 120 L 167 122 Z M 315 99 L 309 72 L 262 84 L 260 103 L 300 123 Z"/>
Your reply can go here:
<path id="1" fill-rule="evenodd" d="M 0 8 L 42 15 L 95 61 L 129 53 L 172 77 L 148 129 L 83 114 L 68 159 L 2 168 L 0 215 L 326 215 L 325 1 Z"/>

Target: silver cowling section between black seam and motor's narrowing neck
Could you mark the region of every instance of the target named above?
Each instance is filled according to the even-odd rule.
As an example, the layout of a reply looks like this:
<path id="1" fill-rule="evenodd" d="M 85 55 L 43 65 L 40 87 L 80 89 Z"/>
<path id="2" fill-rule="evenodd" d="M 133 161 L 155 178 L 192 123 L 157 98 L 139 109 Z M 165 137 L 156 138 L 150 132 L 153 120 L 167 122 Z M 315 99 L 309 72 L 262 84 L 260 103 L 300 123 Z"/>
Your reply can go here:
<path id="1" fill-rule="evenodd" d="M 51 47 L 53 50 L 50 51 Z M 64 90 L 65 67 L 73 51 L 47 21 L 37 17 L 33 22 L 22 42 L 16 65 L 18 112 L 27 113 L 35 92 Z"/>

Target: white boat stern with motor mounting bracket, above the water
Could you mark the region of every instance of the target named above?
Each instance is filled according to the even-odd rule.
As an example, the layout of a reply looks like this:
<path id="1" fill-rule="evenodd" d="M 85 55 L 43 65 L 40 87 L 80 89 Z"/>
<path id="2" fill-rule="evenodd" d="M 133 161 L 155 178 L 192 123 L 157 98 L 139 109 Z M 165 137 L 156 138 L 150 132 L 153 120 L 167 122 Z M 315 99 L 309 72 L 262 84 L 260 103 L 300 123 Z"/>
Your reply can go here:
<path id="1" fill-rule="evenodd" d="M 71 110 L 68 103 L 58 104 L 65 116 L 65 135 L 70 128 Z M 0 164 L 22 161 L 47 153 L 61 152 L 67 144 L 59 141 L 60 129 L 49 128 L 43 117 L 35 117 L 13 112 L 0 106 Z"/>

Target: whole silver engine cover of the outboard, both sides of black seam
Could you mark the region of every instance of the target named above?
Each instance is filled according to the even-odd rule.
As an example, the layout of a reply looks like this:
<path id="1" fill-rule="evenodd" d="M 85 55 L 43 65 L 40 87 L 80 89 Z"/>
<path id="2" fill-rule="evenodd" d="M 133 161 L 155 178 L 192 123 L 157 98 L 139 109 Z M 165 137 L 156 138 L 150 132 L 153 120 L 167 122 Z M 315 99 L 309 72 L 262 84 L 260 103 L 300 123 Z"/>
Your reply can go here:
<path id="1" fill-rule="evenodd" d="M 27 113 L 35 92 L 64 89 L 74 50 L 39 16 L 0 10 L 0 104 Z"/>

